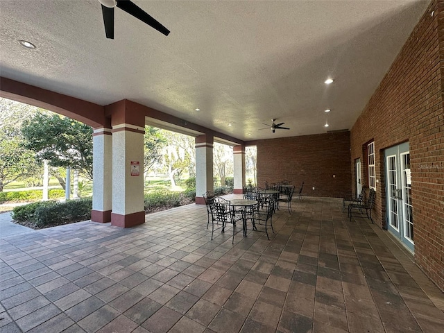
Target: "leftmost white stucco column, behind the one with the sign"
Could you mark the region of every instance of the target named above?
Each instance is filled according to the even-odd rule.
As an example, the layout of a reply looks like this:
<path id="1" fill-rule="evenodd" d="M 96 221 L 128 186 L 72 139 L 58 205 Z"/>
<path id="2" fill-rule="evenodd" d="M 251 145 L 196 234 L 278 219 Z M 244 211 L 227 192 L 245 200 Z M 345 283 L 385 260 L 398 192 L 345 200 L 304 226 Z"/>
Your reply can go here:
<path id="1" fill-rule="evenodd" d="M 110 222 L 112 208 L 111 128 L 94 128 L 92 134 L 92 211 L 91 221 Z"/>

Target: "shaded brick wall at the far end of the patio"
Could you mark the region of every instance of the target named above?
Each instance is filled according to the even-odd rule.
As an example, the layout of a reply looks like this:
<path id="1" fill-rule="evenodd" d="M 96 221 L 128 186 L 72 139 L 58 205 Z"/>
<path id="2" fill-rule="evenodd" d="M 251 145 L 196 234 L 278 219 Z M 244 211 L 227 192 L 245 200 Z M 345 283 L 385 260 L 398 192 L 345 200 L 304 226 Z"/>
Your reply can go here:
<path id="1" fill-rule="evenodd" d="M 258 140 L 255 144 L 260 187 L 265 181 L 289 180 L 295 191 L 305 182 L 304 196 L 343 197 L 351 191 L 350 132 Z"/>

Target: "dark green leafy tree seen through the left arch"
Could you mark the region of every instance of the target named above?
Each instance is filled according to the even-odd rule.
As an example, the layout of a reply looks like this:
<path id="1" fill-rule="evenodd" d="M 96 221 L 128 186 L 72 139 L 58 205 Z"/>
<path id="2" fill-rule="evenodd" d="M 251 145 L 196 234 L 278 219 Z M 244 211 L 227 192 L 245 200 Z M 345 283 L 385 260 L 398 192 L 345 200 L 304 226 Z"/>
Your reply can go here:
<path id="1" fill-rule="evenodd" d="M 60 116 L 37 113 L 22 126 L 25 147 L 52 167 L 71 167 L 92 180 L 92 128 Z"/>

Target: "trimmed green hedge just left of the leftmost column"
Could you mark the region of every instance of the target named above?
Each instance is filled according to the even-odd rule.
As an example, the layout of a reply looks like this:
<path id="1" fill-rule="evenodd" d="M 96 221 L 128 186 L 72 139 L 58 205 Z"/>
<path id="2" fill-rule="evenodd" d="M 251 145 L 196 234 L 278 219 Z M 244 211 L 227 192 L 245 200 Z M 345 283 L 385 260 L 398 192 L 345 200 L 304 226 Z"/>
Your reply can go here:
<path id="1" fill-rule="evenodd" d="M 41 201 L 15 207 L 12 219 L 19 222 L 29 221 L 42 227 L 66 222 L 85 221 L 91 219 L 92 198 Z"/>

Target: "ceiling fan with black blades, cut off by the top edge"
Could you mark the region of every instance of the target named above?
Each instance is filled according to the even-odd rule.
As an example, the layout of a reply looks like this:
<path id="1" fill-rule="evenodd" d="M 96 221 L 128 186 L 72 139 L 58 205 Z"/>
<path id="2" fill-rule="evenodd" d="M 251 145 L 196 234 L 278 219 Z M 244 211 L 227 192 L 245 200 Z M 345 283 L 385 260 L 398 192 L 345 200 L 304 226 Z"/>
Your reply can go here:
<path id="1" fill-rule="evenodd" d="M 105 24 L 107 38 L 114 39 L 114 7 L 128 12 L 129 15 L 134 16 L 166 36 L 169 34 L 167 28 L 162 26 L 162 24 L 153 19 L 151 15 L 148 15 L 130 0 L 99 0 L 99 2 L 102 5 L 103 23 Z"/>

